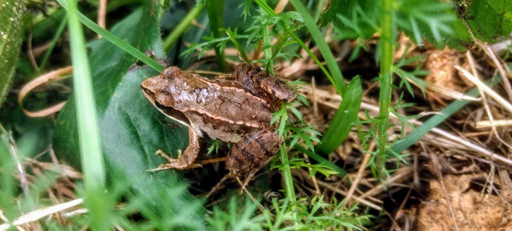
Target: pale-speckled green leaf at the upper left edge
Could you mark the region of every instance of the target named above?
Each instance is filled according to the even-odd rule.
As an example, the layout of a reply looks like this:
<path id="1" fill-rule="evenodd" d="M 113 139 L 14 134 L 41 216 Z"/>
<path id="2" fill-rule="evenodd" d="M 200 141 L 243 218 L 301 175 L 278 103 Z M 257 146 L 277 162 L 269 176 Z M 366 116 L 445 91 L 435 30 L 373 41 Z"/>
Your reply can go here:
<path id="1" fill-rule="evenodd" d="M 7 95 L 23 41 L 22 17 L 25 2 L 2 1 L 0 7 L 0 106 Z"/>

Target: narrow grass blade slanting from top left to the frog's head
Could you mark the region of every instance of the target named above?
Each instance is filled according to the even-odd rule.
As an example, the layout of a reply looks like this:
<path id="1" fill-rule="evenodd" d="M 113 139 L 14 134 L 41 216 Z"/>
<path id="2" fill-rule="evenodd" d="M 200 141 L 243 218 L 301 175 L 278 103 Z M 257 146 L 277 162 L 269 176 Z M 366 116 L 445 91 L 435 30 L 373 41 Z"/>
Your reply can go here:
<path id="1" fill-rule="evenodd" d="M 57 0 L 57 2 L 63 8 L 68 10 L 68 3 L 66 0 Z M 83 25 L 85 25 L 92 31 L 96 32 L 97 34 L 101 35 L 101 37 L 103 37 L 104 39 L 112 42 L 113 44 L 115 44 L 117 47 L 119 47 L 123 51 L 125 51 L 125 52 L 131 54 L 133 57 L 139 59 L 141 62 L 152 67 L 157 72 L 162 72 L 163 69 L 165 68 L 165 66 L 158 63 L 154 59 L 147 57 L 146 55 L 144 55 L 144 53 L 142 53 L 139 50 L 137 50 L 136 48 L 132 47 L 130 44 L 126 43 L 121 38 L 115 36 L 114 34 L 110 33 L 109 31 L 101 28 L 100 26 L 98 26 L 95 22 L 91 21 L 91 19 L 89 19 L 85 15 L 81 14 L 80 12 L 77 12 L 77 14 L 78 14 L 78 19 L 80 20 L 80 22 L 82 22 Z"/>

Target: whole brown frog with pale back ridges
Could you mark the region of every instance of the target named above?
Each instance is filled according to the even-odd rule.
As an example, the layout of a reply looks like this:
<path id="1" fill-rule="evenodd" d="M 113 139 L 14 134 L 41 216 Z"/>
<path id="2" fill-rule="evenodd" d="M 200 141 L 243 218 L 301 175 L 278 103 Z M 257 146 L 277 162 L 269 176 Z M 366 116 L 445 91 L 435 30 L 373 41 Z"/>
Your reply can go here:
<path id="1" fill-rule="evenodd" d="M 189 145 L 178 158 L 158 154 L 169 163 L 156 170 L 187 169 L 199 153 L 198 136 L 234 143 L 226 158 L 232 173 L 248 173 L 243 184 L 258 172 L 283 143 L 270 125 L 281 102 L 291 102 L 295 92 L 279 78 L 246 62 L 226 79 L 210 80 L 168 66 L 159 76 L 142 82 L 144 96 L 167 117 L 188 126 Z"/>

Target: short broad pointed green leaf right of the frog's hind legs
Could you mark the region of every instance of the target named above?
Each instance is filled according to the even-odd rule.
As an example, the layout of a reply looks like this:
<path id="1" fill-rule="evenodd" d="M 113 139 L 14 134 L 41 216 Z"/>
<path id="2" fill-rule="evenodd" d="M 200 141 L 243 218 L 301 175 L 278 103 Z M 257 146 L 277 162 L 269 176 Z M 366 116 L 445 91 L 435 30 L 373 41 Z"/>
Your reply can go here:
<path id="1" fill-rule="evenodd" d="M 334 119 L 322 138 L 322 144 L 317 149 L 328 154 L 336 149 L 347 137 L 353 123 L 357 119 L 357 113 L 361 105 L 361 79 L 356 76 L 352 79 L 343 96 L 342 104 L 339 105 Z"/>

